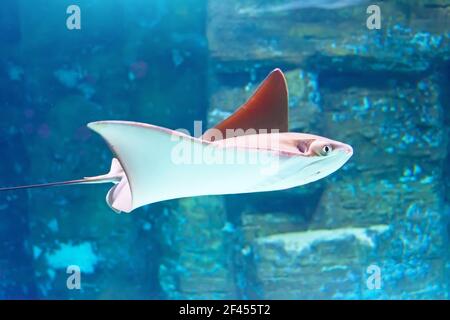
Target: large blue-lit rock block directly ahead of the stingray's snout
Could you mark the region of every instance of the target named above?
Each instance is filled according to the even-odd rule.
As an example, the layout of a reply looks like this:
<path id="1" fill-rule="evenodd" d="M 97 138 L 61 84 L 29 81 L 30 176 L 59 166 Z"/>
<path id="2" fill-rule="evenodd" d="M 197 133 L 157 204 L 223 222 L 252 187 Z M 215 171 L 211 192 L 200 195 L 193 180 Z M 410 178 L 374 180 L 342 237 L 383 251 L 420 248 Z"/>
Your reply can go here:
<path id="1" fill-rule="evenodd" d="M 339 91 L 331 80 L 323 84 L 327 135 L 350 141 L 357 152 L 327 180 L 313 218 L 317 228 L 394 222 L 411 202 L 442 212 L 437 190 L 448 139 L 437 82 L 392 78 L 381 90 L 363 77 Z"/>

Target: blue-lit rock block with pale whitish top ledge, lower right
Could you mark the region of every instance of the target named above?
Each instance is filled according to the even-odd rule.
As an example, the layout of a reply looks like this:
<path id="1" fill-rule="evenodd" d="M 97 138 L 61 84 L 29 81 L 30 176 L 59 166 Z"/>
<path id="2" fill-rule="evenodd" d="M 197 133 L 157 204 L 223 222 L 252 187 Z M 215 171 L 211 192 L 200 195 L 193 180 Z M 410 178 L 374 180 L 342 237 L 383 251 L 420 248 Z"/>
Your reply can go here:
<path id="1" fill-rule="evenodd" d="M 254 241 L 264 299 L 357 299 L 386 225 L 276 234 Z"/>

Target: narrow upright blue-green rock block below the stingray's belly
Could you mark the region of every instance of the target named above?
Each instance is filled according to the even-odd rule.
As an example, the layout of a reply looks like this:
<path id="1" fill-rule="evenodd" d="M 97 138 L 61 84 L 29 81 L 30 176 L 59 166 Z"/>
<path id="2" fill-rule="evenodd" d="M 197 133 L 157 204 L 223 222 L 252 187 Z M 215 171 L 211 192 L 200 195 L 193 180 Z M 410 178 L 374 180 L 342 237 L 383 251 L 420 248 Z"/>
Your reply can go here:
<path id="1" fill-rule="evenodd" d="M 230 231 L 223 197 L 171 202 L 157 225 L 160 286 L 171 299 L 233 299 Z"/>

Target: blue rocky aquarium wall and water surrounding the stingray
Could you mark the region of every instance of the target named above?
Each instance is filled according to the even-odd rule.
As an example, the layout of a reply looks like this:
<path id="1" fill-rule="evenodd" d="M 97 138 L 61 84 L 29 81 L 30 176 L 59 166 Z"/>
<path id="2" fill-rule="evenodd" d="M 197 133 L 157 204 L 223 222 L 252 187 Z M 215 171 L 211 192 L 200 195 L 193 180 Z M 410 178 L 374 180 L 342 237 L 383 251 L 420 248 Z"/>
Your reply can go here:
<path id="1" fill-rule="evenodd" d="M 106 186 L 1 194 L 0 298 L 449 298 L 450 7 L 331 2 L 84 0 L 72 32 L 64 1 L 5 1 L 1 185 L 107 171 L 87 122 L 211 126 L 275 67 L 291 129 L 355 154 L 304 187 L 131 215 L 109 210 Z"/>

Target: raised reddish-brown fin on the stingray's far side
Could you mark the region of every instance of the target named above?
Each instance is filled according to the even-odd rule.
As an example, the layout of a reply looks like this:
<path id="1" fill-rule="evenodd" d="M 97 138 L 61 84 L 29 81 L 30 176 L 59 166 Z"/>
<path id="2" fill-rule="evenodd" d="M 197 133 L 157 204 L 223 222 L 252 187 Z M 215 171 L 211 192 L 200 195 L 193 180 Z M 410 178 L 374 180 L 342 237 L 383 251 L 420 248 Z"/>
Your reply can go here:
<path id="1" fill-rule="evenodd" d="M 283 72 L 273 70 L 250 99 L 214 129 L 220 130 L 222 136 L 227 138 L 227 129 L 288 131 L 288 90 Z M 212 132 L 207 131 L 202 139 L 216 140 L 216 136 L 212 138 Z"/>

